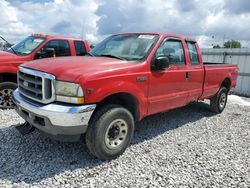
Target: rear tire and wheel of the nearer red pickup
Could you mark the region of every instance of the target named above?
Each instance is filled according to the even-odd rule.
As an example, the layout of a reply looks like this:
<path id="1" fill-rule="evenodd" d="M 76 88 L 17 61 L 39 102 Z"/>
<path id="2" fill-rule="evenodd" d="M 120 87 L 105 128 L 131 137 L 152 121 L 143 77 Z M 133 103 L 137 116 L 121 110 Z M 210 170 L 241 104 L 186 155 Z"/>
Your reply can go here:
<path id="1" fill-rule="evenodd" d="M 219 91 L 210 99 L 210 109 L 212 112 L 221 113 L 227 104 L 228 90 L 226 87 L 221 87 Z"/>

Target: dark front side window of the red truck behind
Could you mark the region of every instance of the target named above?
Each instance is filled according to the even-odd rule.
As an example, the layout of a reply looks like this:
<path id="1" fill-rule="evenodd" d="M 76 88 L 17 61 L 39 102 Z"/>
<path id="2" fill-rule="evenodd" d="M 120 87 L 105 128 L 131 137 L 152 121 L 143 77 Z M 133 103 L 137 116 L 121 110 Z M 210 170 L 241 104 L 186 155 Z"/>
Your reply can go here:
<path id="1" fill-rule="evenodd" d="M 70 56 L 69 43 L 66 40 L 51 40 L 44 46 L 46 48 L 54 48 L 56 57 Z"/>

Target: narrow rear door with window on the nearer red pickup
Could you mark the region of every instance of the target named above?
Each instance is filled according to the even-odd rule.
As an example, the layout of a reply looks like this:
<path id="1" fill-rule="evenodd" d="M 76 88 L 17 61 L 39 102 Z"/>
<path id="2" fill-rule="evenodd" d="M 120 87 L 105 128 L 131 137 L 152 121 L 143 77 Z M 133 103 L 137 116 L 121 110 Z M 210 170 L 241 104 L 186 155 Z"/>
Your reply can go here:
<path id="1" fill-rule="evenodd" d="M 202 59 L 199 56 L 198 44 L 195 41 L 186 41 L 189 67 L 187 70 L 187 89 L 188 99 L 187 102 L 197 101 L 202 95 L 203 82 L 204 82 L 204 68 L 202 65 Z"/>

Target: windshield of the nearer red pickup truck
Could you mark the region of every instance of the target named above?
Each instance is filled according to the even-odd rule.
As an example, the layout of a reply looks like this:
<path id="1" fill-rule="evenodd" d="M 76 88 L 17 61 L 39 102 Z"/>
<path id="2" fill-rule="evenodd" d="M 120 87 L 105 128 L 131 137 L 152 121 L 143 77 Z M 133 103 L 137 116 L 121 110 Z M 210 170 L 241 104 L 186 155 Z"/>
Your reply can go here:
<path id="1" fill-rule="evenodd" d="M 158 36 L 153 34 L 114 35 L 99 43 L 91 50 L 90 55 L 142 60 L 147 57 L 157 39 Z"/>

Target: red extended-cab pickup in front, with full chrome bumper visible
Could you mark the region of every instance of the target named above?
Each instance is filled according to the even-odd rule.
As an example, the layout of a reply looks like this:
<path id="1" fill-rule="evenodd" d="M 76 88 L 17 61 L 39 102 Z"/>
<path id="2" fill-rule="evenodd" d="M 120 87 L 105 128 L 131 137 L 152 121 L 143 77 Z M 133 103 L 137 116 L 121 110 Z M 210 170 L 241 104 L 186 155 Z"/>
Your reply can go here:
<path id="1" fill-rule="evenodd" d="M 13 98 L 27 126 L 68 141 L 86 133 L 90 152 L 112 159 L 146 116 L 203 99 L 221 113 L 237 71 L 202 62 L 193 38 L 126 33 L 108 37 L 88 56 L 23 64 Z"/>

